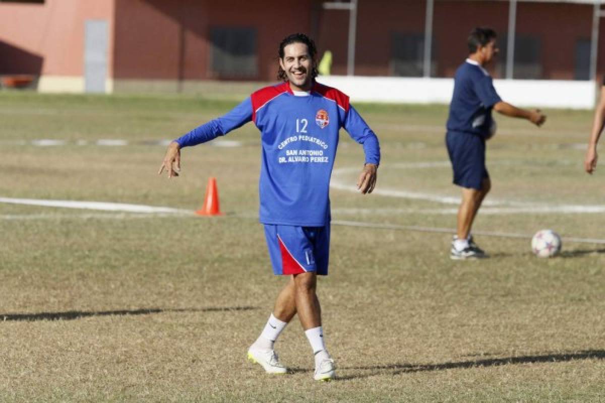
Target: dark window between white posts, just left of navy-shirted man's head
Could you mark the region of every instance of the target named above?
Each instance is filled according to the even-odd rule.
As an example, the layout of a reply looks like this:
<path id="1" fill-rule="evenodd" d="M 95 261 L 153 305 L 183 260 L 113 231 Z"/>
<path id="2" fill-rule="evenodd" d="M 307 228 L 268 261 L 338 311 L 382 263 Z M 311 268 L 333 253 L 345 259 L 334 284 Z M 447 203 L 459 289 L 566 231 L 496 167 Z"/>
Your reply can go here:
<path id="1" fill-rule="evenodd" d="M 431 51 L 431 72 L 436 71 L 435 42 Z M 394 32 L 391 34 L 391 76 L 424 76 L 424 34 Z"/>

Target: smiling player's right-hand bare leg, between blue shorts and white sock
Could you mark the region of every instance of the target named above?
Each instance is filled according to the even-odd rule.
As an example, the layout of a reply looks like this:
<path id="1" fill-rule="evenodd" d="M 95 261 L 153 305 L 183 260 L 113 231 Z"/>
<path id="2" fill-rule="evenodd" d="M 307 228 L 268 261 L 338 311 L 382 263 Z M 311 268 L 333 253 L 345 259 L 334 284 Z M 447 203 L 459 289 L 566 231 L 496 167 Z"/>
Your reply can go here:
<path id="1" fill-rule="evenodd" d="M 295 274 L 296 313 L 302 329 L 309 330 L 321 326 L 321 307 L 315 293 L 317 276 L 315 272 Z"/>

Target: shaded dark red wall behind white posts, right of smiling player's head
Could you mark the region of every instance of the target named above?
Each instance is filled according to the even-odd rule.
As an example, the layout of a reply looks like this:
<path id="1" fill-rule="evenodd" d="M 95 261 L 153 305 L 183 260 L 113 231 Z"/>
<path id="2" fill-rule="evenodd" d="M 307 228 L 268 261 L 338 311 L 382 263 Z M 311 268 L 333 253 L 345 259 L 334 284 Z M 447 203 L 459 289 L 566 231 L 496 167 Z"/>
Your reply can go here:
<path id="1" fill-rule="evenodd" d="M 355 74 L 387 76 L 393 31 L 424 33 L 426 2 L 359 0 Z M 507 1 L 436 0 L 433 11 L 433 76 L 453 77 L 468 55 L 466 37 L 477 26 L 494 28 L 506 42 Z M 602 21 L 603 23 L 603 21 Z M 541 39 L 543 79 L 574 79 L 575 43 L 590 38 L 592 5 L 517 2 L 517 33 Z M 605 30 L 601 29 L 601 32 Z M 326 10 L 319 22 L 320 53 L 333 53 L 333 74 L 347 73 L 348 12 Z M 603 35 L 601 35 L 603 36 Z M 605 63 L 605 42 L 600 41 L 600 66 Z M 504 55 L 489 69 L 501 77 Z"/>

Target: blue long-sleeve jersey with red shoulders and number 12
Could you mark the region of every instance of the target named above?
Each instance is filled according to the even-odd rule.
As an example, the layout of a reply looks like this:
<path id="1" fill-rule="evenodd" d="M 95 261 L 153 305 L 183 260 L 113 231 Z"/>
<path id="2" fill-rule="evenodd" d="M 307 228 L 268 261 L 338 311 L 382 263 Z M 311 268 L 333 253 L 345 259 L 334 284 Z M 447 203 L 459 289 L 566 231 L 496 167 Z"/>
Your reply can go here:
<path id="1" fill-rule="evenodd" d="M 261 132 L 259 184 L 263 224 L 319 227 L 330 222 L 329 184 L 341 127 L 362 144 L 365 163 L 379 164 L 378 138 L 347 95 L 315 83 L 309 96 L 289 84 L 260 89 L 226 115 L 178 138 L 195 146 L 254 121 Z"/>

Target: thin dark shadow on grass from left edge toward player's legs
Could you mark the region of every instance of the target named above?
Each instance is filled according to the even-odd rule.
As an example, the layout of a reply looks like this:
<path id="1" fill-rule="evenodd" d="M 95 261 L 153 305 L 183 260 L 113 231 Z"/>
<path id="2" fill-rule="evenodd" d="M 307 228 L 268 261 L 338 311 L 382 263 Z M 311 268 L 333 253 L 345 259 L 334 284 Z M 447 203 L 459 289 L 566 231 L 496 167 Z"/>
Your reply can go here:
<path id="1" fill-rule="evenodd" d="M 163 312 L 229 312 L 252 311 L 260 309 L 257 306 L 219 306 L 209 308 L 141 308 L 119 309 L 116 311 L 65 311 L 65 312 L 39 312 L 37 314 L 0 314 L 0 320 L 74 320 L 91 316 L 113 315 L 151 315 Z"/>

